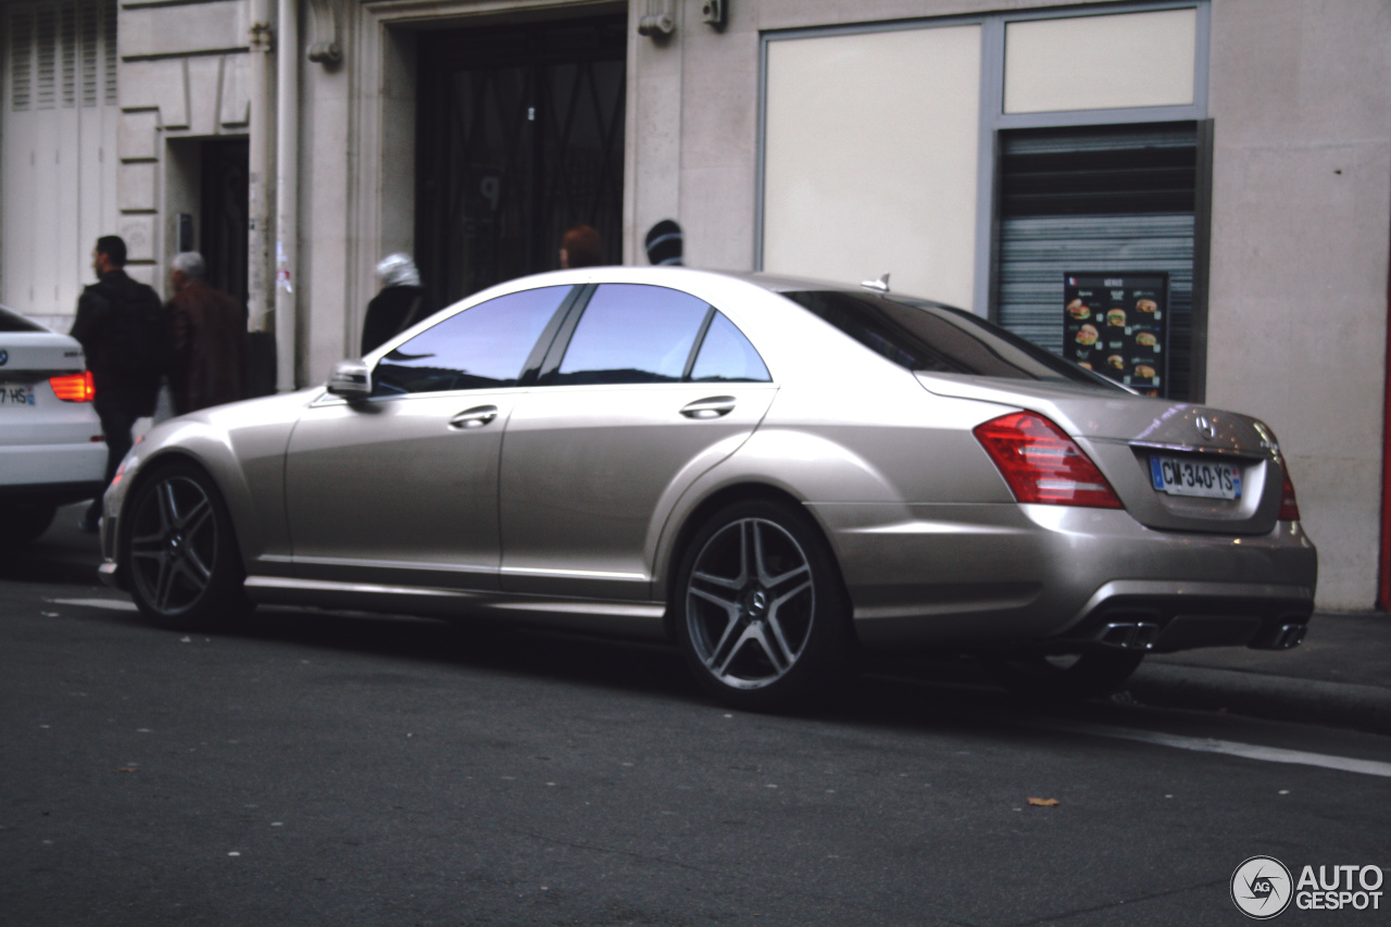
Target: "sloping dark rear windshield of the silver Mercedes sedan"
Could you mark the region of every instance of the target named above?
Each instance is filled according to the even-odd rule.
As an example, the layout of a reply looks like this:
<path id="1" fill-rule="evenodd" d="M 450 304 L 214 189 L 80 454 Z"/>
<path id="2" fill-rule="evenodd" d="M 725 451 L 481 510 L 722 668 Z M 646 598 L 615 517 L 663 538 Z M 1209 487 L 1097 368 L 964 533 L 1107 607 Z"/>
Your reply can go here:
<path id="1" fill-rule="evenodd" d="M 1124 391 L 1100 374 L 951 306 L 835 290 L 782 295 L 908 370 L 1084 383 Z"/>

